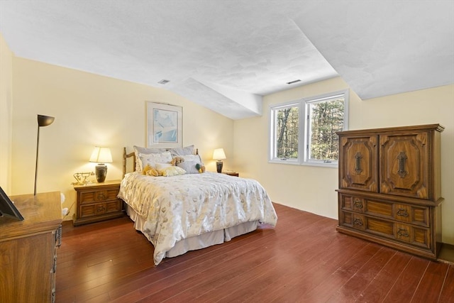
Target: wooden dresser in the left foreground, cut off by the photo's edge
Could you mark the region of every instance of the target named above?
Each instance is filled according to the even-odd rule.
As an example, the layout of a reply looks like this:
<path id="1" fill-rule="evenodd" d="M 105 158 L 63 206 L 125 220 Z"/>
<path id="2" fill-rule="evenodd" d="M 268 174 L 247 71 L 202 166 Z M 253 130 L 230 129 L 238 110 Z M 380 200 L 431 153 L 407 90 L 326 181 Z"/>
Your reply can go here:
<path id="1" fill-rule="evenodd" d="M 0 302 L 54 302 L 60 192 L 10 198 L 24 220 L 0 218 Z"/>

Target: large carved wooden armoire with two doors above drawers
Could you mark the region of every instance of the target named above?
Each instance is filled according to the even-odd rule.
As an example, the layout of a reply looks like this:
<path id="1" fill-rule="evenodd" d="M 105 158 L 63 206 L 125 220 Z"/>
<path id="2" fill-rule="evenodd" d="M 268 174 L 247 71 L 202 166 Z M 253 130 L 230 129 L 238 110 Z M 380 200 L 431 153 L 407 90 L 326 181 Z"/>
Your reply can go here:
<path id="1" fill-rule="evenodd" d="M 431 124 L 338 132 L 337 230 L 436 259 L 443 129 Z"/>

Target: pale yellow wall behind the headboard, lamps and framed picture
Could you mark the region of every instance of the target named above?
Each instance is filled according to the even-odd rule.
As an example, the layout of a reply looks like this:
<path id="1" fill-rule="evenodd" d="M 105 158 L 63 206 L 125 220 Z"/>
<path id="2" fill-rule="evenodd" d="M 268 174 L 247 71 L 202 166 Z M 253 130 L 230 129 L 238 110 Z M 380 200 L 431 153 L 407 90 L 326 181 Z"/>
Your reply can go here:
<path id="1" fill-rule="evenodd" d="M 207 170 L 216 171 L 214 148 L 233 154 L 231 119 L 165 89 L 13 57 L 13 91 L 11 194 L 33 192 L 37 114 L 55 116 L 40 128 L 38 192 L 63 192 L 68 208 L 72 175 L 94 171 L 88 160 L 95 145 L 111 148 L 107 180 L 122 177 L 123 146 L 145 146 L 145 101 L 182 106 L 183 145 L 199 148 Z"/>

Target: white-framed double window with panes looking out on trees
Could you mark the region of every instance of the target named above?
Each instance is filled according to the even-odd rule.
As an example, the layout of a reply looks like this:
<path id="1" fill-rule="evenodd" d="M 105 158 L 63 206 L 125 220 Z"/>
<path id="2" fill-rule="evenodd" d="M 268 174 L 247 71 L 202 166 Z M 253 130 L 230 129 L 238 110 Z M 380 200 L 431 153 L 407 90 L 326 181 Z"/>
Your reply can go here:
<path id="1" fill-rule="evenodd" d="M 337 167 L 348 90 L 270 107 L 270 161 Z"/>

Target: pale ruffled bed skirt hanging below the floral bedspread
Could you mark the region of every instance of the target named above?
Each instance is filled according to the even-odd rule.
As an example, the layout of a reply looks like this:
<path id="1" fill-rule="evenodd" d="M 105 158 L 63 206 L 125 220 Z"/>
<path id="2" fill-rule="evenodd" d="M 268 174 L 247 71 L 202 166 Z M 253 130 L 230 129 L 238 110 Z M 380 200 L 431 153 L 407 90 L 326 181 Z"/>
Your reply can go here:
<path id="1" fill-rule="evenodd" d="M 134 228 L 141 233 L 143 233 L 147 238 L 147 233 L 143 232 L 143 226 L 145 225 L 145 219 L 139 216 L 128 204 L 126 206 L 126 214 L 134 221 Z M 189 250 L 197 250 L 201 248 L 206 248 L 209 246 L 214 246 L 216 244 L 221 244 L 226 241 L 231 241 L 232 238 L 236 236 L 241 236 L 245 233 L 250 233 L 255 231 L 259 226 L 259 221 L 250 221 L 236 226 L 228 227 L 221 229 L 219 231 L 211 231 L 209 233 L 204 233 L 199 236 L 194 236 L 191 238 L 186 238 L 175 243 L 175 246 L 168 250 L 165 254 L 165 258 L 176 257 L 177 255 L 182 255 L 187 253 Z M 150 238 L 148 238 L 150 241 Z"/>

